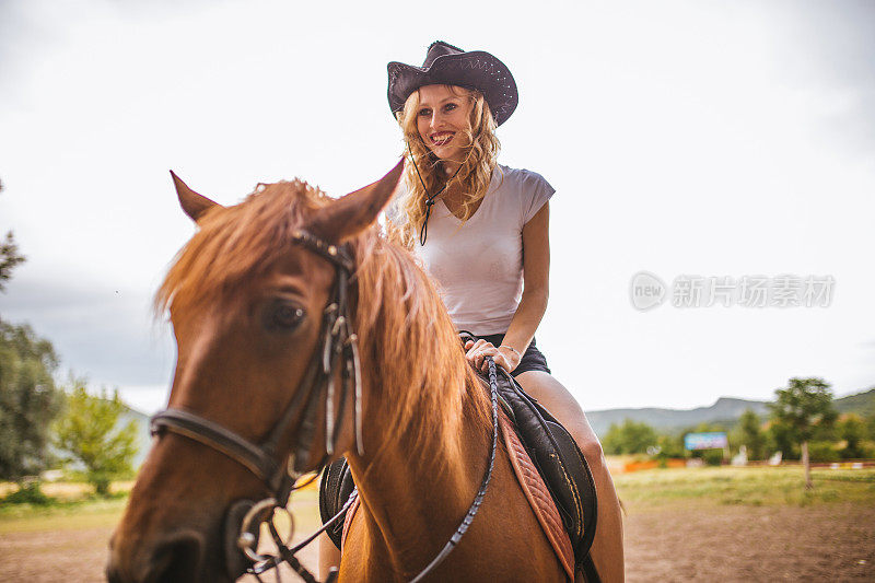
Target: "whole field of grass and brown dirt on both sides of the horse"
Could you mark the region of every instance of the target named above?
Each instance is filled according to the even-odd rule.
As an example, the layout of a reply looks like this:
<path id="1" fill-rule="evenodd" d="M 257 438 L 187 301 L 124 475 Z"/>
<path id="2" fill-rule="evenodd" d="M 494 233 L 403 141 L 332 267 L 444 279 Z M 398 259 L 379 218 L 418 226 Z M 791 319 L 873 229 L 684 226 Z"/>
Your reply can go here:
<path id="1" fill-rule="evenodd" d="M 798 467 L 653 469 L 615 481 L 628 581 L 875 581 L 875 469 L 816 470 L 812 492 Z M 0 582 L 103 580 L 126 500 L 61 489 L 57 505 L 0 505 Z M 317 509 L 315 491 L 294 497 L 299 536 L 316 527 Z"/>

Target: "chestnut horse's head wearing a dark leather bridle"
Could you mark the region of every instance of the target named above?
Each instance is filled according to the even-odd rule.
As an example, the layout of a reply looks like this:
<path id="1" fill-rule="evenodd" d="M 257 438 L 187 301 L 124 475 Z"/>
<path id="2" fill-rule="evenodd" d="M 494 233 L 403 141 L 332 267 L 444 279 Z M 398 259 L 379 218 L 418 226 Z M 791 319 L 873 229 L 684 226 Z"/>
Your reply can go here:
<path id="1" fill-rule="evenodd" d="M 340 199 L 301 182 L 259 185 L 228 208 L 173 175 L 198 232 L 158 293 L 176 369 L 168 410 L 155 418 L 156 439 L 110 543 L 109 581 L 232 580 L 244 569 L 225 541 L 235 502 L 277 495 L 290 456 L 298 474 L 355 444 L 343 390 L 315 401 L 303 395 L 314 374 L 332 386 L 347 381 L 343 362 L 319 365 L 325 335 L 343 326 L 329 312 L 339 278 L 350 276 L 345 260 L 361 252 L 357 240 L 372 231 L 400 174 L 399 163 Z M 330 428 L 331 409 L 346 411 L 340 431 Z M 266 456 L 247 454 L 247 444 L 265 446 Z"/>

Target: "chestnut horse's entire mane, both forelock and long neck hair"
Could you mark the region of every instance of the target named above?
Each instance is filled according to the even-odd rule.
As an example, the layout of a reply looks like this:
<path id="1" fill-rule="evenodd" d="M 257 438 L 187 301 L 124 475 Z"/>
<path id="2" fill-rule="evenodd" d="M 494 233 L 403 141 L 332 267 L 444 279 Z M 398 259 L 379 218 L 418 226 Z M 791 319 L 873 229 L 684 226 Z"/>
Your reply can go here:
<path id="1" fill-rule="evenodd" d="M 258 185 L 240 205 L 210 209 L 172 264 L 155 296 L 156 311 L 190 311 L 242 298 L 246 283 L 288 254 L 293 233 L 331 200 L 293 180 Z M 388 440 L 458 454 L 463 416 L 486 434 L 491 413 L 434 284 L 412 255 L 376 226 L 349 245 L 365 413 L 385 416 L 381 422 L 392 428 Z"/>

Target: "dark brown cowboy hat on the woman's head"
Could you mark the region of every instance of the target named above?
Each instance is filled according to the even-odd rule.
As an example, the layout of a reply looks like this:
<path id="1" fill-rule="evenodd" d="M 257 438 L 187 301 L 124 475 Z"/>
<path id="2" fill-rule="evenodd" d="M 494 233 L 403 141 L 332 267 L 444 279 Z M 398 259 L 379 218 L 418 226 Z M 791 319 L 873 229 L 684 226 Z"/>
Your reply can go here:
<path id="1" fill-rule="evenodd" d="M 393 114 L 404 109 L 407 97 L 424 85 L 458 85 L 483 94 L 489 109 L 501 126 L 516 109 L 520 97 L 511 70 L 483 50 L 466 53 L 443 40 L 432 43 L 422 67 L 392 61 L 388 65 L 389 107 Z"/>

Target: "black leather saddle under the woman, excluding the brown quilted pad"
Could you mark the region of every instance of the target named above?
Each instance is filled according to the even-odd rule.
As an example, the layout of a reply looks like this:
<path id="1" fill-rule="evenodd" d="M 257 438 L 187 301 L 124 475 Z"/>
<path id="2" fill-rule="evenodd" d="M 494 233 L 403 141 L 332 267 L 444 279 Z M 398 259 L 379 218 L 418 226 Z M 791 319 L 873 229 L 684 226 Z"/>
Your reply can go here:
<path id="1" fill-rule="evenodd" d="M 562 524 L 571 539 L 574 562 L 586 581 L 598 581 L 590 557 L 596 528 L 595 482 L 586 459 L 564 427 L 516 380 L 499 369 L 499 404 L 513 421 L 516 434 L 547 486 Z M 486 380 L 485 387 L 489 390 Z M 325 523 L 349 500 L 355 485 L 345 458 L 330 464 L 319 487 L 319 513 Z M 337 548 L 341 546 L 343 521 L 326 530 Z"/>

